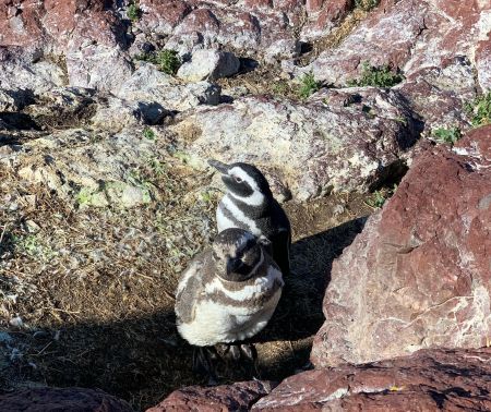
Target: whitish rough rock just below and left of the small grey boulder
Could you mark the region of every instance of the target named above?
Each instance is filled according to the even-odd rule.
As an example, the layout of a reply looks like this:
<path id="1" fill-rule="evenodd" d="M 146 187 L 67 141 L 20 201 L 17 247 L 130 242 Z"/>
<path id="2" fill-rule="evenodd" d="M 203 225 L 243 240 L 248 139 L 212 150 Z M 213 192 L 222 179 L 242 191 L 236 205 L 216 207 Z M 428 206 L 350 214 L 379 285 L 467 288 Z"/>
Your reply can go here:
<path id="1" fill-rule="evenodd" d="M 141 63 L 133 75 L 117 92 L 129 101 L 158 104 L 167 110 L 187 110 L 199 105 L 218 105 L 220 87 L 208 82 L 180 84 L 159 72 L 154 64 Z"/>

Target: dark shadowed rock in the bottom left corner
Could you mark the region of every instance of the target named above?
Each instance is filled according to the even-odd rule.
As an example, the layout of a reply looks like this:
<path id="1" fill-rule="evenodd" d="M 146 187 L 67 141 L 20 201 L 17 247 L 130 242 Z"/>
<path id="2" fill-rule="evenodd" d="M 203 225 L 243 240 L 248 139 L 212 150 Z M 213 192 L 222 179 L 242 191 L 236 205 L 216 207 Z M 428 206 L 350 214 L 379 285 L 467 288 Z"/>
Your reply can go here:
<path id="1" fill-rule="evenodd" d="M 33 388 L 0 395 L 2 411 L 28 412 L 132 412 L 123 400 L 99 389 L 85 388 Z"/>

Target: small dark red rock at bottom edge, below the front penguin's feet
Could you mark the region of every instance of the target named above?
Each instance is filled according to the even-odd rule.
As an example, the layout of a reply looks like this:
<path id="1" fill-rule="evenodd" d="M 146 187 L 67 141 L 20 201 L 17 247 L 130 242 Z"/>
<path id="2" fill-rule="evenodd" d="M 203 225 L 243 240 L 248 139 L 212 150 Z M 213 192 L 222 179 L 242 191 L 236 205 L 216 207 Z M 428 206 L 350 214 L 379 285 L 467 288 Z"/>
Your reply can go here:
<path id="1" fill-rule="evenodd" d="M 203 388 L 190 386 L 170 393 L 146 412 L 164 411 L 249 411 L 250 405 L 266 396 L 276 386 L 271 381 L 251 380 L 232 385 Z"/>

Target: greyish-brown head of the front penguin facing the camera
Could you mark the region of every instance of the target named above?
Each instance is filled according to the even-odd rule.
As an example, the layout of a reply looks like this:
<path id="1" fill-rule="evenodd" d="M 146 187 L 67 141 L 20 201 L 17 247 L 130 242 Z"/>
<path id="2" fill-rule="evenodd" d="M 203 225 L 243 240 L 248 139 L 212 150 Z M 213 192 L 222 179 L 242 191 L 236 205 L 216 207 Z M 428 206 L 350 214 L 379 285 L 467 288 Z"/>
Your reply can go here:
<path id="1" fill-rule="evenodd" d="M 212 258 L 224 280 L 241 282 L 252 278 L 264 258 L 263 242 L 247 230 L 229 228 L 215 238 Z"/>

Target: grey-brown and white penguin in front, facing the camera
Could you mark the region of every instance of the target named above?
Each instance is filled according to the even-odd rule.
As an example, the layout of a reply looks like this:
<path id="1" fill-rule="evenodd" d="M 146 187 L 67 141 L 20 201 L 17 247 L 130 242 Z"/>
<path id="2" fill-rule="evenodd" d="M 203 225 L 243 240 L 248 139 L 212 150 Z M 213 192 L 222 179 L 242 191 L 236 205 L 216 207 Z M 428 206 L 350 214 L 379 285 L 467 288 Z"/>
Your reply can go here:
<path id="1" fill-rule="evenodd" d="M 212 349 L 225 343 L 232 348 L 233 359 L 240 358 L 237 348 L 252 358 L 243 341 L 266 326 L 278 304 L 283 275 L 267 243 L 243 229 L 226 229 L 179 280 L 175 306 L 179 335 L 197 349 L 195 368 L 201 366 L 214 380 Z"/>

